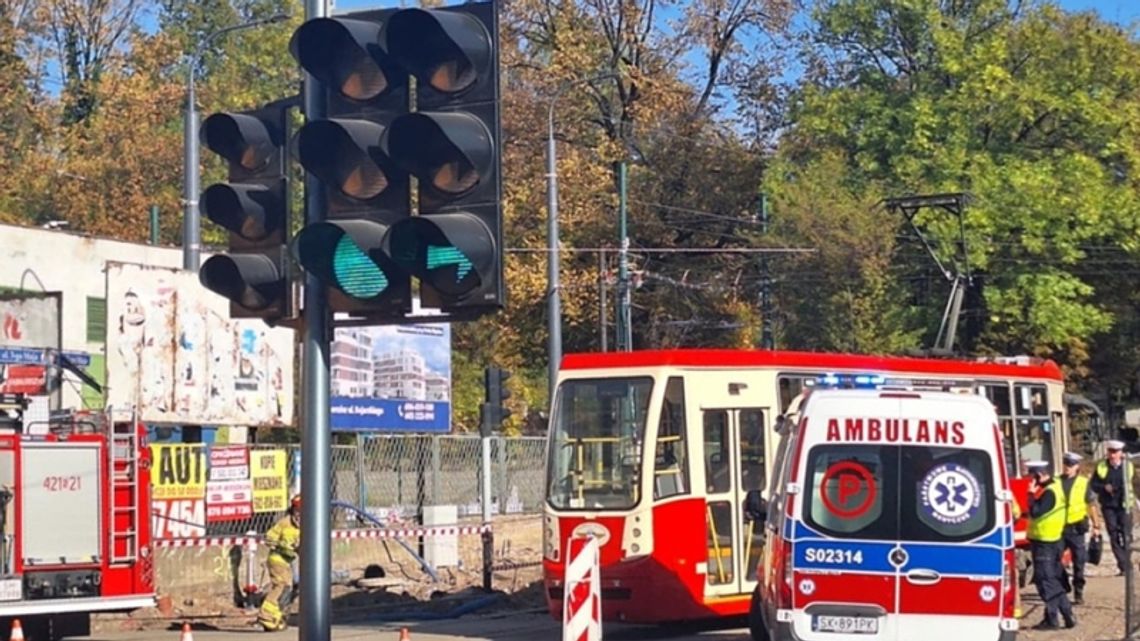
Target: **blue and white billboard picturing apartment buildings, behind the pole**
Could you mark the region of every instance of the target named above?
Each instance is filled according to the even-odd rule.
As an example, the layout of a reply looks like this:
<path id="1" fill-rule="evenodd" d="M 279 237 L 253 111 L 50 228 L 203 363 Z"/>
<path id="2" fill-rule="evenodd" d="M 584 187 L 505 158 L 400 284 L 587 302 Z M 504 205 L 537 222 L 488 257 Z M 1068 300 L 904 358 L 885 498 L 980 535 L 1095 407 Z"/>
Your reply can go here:
<path id="1" fill-rule="evenodd" d="M 334 430 L 450 431 L 450 325 L 337 328 L 329 364 Z"/>

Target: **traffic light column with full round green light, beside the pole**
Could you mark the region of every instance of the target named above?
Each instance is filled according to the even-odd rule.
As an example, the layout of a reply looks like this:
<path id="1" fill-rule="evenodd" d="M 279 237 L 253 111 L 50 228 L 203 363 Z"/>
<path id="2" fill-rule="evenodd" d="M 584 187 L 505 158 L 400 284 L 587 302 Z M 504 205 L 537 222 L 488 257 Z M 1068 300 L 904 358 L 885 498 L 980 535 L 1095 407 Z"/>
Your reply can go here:
<path id="1" fill-rule="evenodd" d="M 412 308 L 410 275 L 385 249 L 393 224 L 410 216 L 407 172 L 383 138 L 408 111 L 408 76 L 384 46 L 393 10 L 316 18 L 294 33 L 298 63 L 325 88 L 326 117 L 298 135 L 301 165 L 325 186 L 327 219 L 298 234 L 301 267 L 328 287 L 334 311 L 401 316 Z"/>

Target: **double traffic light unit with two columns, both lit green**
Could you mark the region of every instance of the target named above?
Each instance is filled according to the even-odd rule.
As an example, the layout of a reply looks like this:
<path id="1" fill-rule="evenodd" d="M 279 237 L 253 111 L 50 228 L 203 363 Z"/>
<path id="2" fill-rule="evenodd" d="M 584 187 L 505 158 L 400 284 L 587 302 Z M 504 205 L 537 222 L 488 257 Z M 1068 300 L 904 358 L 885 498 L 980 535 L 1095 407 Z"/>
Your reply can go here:
<path id="1" fill-rule="evenodd" d="M 294 57 L 327 89 L 299 155 L 328 193 L 328 219 L 299 234 L 296 255 L 339 292 L 334 310 L 404 316 L 413 277 L 425 307 L 503 307 L 495 11 L 360 11 L 294 34 Z"/>

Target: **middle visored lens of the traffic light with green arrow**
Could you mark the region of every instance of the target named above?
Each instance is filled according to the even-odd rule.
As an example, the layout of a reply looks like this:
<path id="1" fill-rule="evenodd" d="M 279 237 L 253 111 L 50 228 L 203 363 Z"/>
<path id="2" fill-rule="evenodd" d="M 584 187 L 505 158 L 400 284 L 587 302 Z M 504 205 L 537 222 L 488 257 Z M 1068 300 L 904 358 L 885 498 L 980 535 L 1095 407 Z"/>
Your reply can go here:
<path id="1" fill-rule="evenodd" d="M 490 131 L 478 117 L 432 112 L 402 115 L 392 122 L 386 149 L 408 172 L 449 198 L 478 187 L 495 153 Z"/>

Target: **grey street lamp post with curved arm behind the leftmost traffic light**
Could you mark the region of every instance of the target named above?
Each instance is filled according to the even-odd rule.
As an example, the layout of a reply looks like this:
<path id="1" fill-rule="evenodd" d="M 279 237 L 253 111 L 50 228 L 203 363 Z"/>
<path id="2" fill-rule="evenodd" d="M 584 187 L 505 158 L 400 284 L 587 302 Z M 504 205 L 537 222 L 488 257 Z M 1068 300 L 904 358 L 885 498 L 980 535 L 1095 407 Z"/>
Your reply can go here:
<path id="1" fill-rule="evenodd" d="M 198 106 L 194 92 L 194 76 L 202 54 L 217 38 L 243 29 L 287 21 L 290 16 L 278 14 L 269 18 L 250 21 L 220 29 L 205 36 L 190 57 L 186 79 L 186 107 L 182 116 L 182 269 L 197 271 L 201 265 L 202 218 L 198 212 Z"/>

